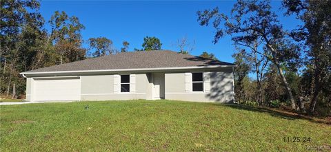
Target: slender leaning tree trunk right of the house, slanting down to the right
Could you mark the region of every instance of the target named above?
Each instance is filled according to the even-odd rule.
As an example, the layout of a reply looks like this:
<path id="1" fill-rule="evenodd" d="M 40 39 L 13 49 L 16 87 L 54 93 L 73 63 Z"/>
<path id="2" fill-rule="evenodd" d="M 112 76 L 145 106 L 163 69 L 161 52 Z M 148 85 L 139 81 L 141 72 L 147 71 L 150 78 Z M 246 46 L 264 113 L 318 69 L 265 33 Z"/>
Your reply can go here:
<path id="1" fill-rule="evenodd" d="M 288 81 L 286 80 L 284 74 L 283 74 L 283 69 L 281 68 L 281 65 L 279 65 L 279 61 L 277 58 L 277 52 L 274 50 L 272 45 L 270 43 L 267 43 L 267 47 L 271 50 L 272 53 L 272 59 L 274 61 L 274 65 L 276 65 L 279 75 L 281 75 L 281 81 L 286 89 L 286 92 L 288 93 L 288 97 L 290 98 L 290 104 L 292 109 L 296 109 L 295 107 L 295 101 L 294 101 L 294 96 L 292 94 L 292 89 L 290 88 L 290 85 L 288 85 Z"/>

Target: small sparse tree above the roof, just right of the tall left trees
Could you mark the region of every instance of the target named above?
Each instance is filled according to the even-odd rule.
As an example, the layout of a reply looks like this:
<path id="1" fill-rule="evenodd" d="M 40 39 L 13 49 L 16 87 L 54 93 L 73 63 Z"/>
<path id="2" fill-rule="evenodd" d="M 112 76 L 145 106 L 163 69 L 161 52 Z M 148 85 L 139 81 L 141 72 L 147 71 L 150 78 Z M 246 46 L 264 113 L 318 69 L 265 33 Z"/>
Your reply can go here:
<path id="1" fill-rule="evenodd" d="M 92 50 L 92 56 L 106 56 L 109 54 L 115 54 L 117 50 L 112 47 L 112 41 L 106 37 L 90 38 L 88 39 L 90 43 L 89 50 Z"/>

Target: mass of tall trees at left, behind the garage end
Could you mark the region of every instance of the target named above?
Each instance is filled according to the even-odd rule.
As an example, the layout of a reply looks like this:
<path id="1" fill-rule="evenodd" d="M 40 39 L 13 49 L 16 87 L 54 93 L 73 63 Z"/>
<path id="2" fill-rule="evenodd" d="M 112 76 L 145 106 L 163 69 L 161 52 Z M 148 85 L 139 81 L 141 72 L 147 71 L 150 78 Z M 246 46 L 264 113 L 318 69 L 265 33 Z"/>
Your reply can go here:
<path id="1" fill-rule="evenodd" d="M 12 98 L 23 94 L 26 81 L 19 72 L 68 63 L 85 58 L 77 17 L 55 12 L 50 20 L 52 31 L 44 28 L 38 12 L 39 1 L 0 2 L 0 94 Z"/>

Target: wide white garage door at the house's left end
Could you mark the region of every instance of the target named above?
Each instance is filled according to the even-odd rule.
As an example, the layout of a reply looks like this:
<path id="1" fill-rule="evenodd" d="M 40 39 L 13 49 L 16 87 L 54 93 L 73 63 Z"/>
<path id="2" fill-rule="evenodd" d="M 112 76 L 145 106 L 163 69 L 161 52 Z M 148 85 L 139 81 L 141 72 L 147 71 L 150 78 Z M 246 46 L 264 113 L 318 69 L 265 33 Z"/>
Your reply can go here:
<path id="1" fill-rule="evenodd" d="M 80 100 L 79 78 L 34 78 L 33 100 Z"/>

